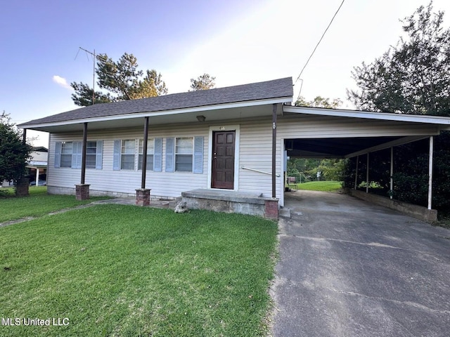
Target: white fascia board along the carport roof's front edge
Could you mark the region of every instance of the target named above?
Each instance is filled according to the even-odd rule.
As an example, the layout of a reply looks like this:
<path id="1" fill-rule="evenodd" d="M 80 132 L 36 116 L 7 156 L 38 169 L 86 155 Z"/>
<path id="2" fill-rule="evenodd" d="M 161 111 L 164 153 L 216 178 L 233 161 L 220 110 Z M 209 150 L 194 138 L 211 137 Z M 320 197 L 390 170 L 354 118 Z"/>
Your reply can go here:
<path id="1" fill-rule="evenodd" d="M 352 117 L 363 119 L 381 119 L 385 121 L 412 121 L 415 123 L 441 124 L 450 127 L 450 117 L 426 116 L 418 114 L 392 114 L 389 112 L 369 112 L 359 110 L 323 109 L 319 107 L 293 107 L 283 105 L 284 112 L 296 114 L 316 114 L 330 117 Z"/>

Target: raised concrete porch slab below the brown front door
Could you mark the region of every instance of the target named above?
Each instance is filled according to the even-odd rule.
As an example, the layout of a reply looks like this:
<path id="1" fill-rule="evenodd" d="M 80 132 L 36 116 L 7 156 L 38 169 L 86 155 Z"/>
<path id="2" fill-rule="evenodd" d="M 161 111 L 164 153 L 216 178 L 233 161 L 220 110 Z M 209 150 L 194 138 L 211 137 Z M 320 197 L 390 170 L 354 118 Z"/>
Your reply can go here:
<path id="1" fill-rule="evenodd" d="M 278 219 L 278 199 L 262 194 L 227 190 L 192 190 L 182 192 L 188 209 L 208 209 L 224 213 L 241 213 Z"/>

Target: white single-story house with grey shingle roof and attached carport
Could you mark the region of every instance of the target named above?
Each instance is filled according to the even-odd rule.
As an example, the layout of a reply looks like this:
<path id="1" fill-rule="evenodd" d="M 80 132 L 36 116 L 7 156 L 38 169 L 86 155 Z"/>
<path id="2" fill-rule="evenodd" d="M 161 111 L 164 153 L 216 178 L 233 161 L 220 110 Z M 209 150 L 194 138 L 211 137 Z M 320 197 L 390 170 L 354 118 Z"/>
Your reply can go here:
<path id="1" fill-rule="evenodd" d="M 19 127 L 50 133 L 52 194 L 75 194 L 75 185 L 117 197 L 151 189 L 152 199 L 234 191 L 274 200 L 277 209 L 288 156 L 354 157 L 450 130 L 445 117 L 292 102 L 287 77 L 80 107 Z"/>

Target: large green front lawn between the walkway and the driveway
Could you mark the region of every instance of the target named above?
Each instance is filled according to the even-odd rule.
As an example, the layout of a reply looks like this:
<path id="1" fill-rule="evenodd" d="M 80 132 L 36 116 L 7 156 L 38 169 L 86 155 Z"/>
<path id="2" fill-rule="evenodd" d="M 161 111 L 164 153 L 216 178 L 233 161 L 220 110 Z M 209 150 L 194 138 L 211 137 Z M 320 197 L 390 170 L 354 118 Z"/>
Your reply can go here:
<path id="1" fill-rule="evenodd" d="M 68 325 L 0 336 L 264 336 L 276 234 L 254 216 L 117 204 L 1 227 L 0 317 Z"/>

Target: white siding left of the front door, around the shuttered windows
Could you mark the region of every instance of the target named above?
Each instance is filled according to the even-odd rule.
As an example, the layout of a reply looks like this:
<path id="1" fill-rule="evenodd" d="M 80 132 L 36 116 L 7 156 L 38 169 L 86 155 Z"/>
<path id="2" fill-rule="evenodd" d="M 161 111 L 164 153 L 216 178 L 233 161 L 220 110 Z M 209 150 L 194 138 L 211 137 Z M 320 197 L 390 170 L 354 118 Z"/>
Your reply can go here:
<path id="1" fill-rule="evenodd" d="M 163 138 L 162 172 L 147 171 L 146 187 L 151 189 L 152 197 L 179 197 L 181 192 L 194 188 L 207 187 L 207 126 L 165 126 L 149 127 L 149 138 Z M 205 137 L 203 156 L 203 174 L 191 172 L 165 172 L 165 144 L 167 137 Z M 90 184 L 91 194 L 96 191 L 135 194 L 141 187 L 141 170 L 113 171 L 114 140 L 143 138 L 143 129 L 121 129 L 109 131 L 88 131 L 88 141 L 103 140 L 103 169 L 86 169 L 86 184 Z M 54 167 L 55 143 L 58 141 L 82 140 L 81 133 L 52 134 L 49 149 L 48 185 L 54 187 L 75 188 L 80 182 L 81 170 Z"/>

